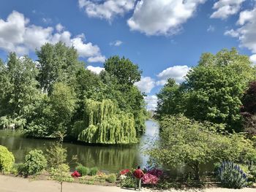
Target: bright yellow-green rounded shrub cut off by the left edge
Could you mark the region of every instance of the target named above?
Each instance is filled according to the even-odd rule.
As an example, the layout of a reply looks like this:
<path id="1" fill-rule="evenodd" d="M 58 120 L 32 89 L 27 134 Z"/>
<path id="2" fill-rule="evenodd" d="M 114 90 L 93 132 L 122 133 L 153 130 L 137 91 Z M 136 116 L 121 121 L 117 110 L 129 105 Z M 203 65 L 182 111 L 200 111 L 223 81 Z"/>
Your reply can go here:
<path id="1" fill-rule="evenodd" d="M 14 156 L 7 147 L 0 145 L 0 172 L 10 172 L 14 164 Z"/>

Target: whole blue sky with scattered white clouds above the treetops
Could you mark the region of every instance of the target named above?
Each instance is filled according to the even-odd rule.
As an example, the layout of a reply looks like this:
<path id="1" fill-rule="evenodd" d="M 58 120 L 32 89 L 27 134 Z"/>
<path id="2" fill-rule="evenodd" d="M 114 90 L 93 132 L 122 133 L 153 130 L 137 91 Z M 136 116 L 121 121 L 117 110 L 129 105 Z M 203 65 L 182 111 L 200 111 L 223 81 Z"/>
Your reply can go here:
<path id="1" fill-rule="evenodd" d="M 168 78 L 177 83 L 202 53 L 236 47 L 256 64 L 255 0 L 1 0 L 0 58 L 29 55 L 46 42 L 78 50 L 99 73 L 112 55 L 143 71 L 135 83 L 147 109 Z"/>

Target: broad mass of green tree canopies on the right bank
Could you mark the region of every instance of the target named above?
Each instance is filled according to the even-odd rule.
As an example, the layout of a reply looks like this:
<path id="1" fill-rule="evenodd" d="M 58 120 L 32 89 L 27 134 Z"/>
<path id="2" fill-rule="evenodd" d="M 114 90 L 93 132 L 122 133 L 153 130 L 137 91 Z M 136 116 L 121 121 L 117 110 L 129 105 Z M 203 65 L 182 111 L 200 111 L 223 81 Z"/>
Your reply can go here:
<path id="1" fill-rule="evenodd" d="M 230 132 L 241 131 L 241 99 L 254 78 L 249 58 L 236 49 L 204 53 L 184 83 L 176 85 L 169 80 L 162 88 L 158 116 L 184 113 L 195 120 L 226 124 Z"/>

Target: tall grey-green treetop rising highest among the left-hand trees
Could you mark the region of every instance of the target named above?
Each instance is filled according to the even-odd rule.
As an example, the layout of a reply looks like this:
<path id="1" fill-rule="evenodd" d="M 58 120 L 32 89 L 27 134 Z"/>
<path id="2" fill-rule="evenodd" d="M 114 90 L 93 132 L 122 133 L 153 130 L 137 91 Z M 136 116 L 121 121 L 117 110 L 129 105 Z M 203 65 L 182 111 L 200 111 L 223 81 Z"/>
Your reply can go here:
<path id="1" fill-rule="evenodd" d="M 45 93 L 50 93 L 55 82 L 75 84 L 75 73 L 82 64 L 78 61 L 78 51 L 63 42 L 56 45 L 46 43 L 36 51 L 38 57 L 38 81 Z"/>

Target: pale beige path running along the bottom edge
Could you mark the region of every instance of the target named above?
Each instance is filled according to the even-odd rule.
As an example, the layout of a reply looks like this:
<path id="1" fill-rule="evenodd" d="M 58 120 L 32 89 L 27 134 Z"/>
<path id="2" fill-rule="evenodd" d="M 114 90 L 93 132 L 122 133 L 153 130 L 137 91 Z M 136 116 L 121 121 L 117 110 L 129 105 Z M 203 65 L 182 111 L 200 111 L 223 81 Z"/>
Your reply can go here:
<path id="1" fill-rule="evenodd" d="M 53 180 L 31 180 L 22 177 L 10 177 L 0 175 L 0 191 L 1 192 L 59 192 L 60 184 Z M 85 185 L 79 183 L 63 183 L 63 192 L 124 192 L 129 189 L 118 188 L 116 186 L 100 186 L 100 185 Z M 151 190 L 143 188 L 142 192 Z M 240 190 L 227 188 L 206 188 L 206 189 L 186 189 L 186 190 L 169 190 L 166 192 L 255 192 L 255 188 L 243 188 Z M 157 191 L 154 191 L 157 192 Z"/>

